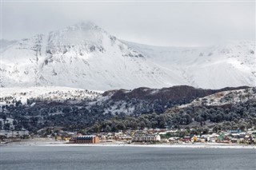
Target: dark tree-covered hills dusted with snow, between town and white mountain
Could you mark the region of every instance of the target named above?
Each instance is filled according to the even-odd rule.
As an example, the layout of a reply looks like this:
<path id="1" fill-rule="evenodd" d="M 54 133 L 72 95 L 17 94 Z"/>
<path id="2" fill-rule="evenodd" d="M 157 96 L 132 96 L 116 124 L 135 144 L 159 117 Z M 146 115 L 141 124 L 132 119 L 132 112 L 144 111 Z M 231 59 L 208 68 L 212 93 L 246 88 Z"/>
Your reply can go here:
<path id="1" fill-rule="evenodd" d="M 243 129 L 256 124 L 256 88 L 174 86 L 105 93 L 62 90 L 38 97 L 26 91 L 16 96 L 6 94 L 1 98 L 0 128 L 37 133 L 41 128 L 58 126 L 69 131 L 116 132 L 138 128 Z"/>

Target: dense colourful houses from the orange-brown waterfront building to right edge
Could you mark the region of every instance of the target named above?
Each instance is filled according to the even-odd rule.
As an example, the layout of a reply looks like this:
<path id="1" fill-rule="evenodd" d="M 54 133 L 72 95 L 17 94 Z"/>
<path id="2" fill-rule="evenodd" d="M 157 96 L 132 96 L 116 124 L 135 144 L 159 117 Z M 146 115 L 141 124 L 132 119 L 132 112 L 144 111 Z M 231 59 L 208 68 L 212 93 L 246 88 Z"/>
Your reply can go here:
<path id="1" fill-rule="evenodd" d="M 184 144 L 184 143 L 224 143 L 224 144 L 256 144 L 256 131 L 230 131 L 210 134 L 180 136 L 177 130 L 145 130 L 126 132 L 102 132 L 94 135 L 84 136 L 76 134 L 72 136 L 69 143 L 73 144 L 98 144 L 114 143 L 116 141 L 127 144 Z"/>

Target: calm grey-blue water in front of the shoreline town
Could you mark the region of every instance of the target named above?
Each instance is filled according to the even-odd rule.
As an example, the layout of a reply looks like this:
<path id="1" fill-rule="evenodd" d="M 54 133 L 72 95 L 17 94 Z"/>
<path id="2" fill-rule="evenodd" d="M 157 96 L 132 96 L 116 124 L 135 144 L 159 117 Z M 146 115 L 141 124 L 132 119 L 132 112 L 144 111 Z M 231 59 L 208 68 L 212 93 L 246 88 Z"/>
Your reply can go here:
<path id="1" fill-rule="evenodd" d="M 256 169 L 255 149 L 1 146 L 0 169 Z"/>

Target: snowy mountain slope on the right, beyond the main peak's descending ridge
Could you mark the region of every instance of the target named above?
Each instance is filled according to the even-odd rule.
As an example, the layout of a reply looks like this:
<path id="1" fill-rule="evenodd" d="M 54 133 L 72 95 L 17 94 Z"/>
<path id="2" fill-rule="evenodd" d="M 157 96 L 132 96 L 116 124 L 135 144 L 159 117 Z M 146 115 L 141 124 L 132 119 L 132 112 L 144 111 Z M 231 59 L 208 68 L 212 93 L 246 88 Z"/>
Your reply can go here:
<path id="1" fill-rule="evenodd" d="M 177 68 L 186 85 L 203 89 L 256 85 L 255 42 L 190 48 L 126 43 L 165 69 Z"/>

